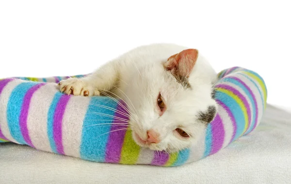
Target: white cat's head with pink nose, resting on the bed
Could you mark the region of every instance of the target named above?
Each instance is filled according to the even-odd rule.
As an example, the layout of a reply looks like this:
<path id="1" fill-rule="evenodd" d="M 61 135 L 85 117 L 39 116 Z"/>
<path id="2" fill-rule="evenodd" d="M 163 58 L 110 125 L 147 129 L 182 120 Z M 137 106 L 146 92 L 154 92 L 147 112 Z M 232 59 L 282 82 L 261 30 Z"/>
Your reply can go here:
<path id="1" fill-rule="evenodd" d="M 175 152 L 197 141 L 216 116 L 215 76 L 195 49 L 141 67 L 125 98 L 135 142 Z"/>

